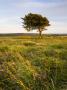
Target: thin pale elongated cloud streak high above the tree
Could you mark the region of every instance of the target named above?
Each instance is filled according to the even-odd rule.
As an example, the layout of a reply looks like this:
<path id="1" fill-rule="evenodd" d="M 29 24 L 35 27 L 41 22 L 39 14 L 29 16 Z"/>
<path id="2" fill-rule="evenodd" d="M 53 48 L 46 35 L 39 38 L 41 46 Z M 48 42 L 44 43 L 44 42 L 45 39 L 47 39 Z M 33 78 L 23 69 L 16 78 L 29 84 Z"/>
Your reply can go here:
<path id="1" fill-rule="evenodd" d="M 30 1 L 30 2 L 25 2 L 25 3 L 17 3 L 17 4 L 15 4 L 18 8 L 24 8 L 24 7 L 28 7 L 28 8 L 30 8 L 30 7 L 39 7 L 39 8 L 41 8 L 41 7 L 46 7 L 46 8 L 49 8 L 49 7 L 53 7 L 53 6 L 55 6 L 56 5 L 56 3 L 47 3 L 47 2 L 45 2 L 45 3 L 43 3 L 43 2 L 32 2 L 32 1 Z"/>

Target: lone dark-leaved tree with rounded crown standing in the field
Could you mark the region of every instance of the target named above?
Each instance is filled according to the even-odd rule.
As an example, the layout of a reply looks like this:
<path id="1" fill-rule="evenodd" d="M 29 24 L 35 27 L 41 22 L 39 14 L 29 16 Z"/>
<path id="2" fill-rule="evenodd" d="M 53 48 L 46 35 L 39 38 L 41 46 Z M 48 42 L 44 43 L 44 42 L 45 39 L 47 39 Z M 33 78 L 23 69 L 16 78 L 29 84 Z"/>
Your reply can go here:
<path id="1" fill-rule="evenodd" d="M 40 37 L 42 36 L 42 31 L 46 30 L 47 26 L 50 26 L 48 19 L 39 14 L 29 13 L 21 19 L 23 20 L 23 26 L 27 31 L 38 29 Z"/>

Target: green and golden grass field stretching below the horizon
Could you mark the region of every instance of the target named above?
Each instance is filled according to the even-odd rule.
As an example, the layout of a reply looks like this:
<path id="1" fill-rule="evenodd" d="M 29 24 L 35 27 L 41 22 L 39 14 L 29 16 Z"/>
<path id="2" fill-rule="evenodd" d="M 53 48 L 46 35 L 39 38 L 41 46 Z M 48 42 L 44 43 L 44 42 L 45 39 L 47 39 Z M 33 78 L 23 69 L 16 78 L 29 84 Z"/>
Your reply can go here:
<path id="1" fill-rule="evenodd" d="M 0 90 L 67 90 L 67 36 L 0 36 Z"/>

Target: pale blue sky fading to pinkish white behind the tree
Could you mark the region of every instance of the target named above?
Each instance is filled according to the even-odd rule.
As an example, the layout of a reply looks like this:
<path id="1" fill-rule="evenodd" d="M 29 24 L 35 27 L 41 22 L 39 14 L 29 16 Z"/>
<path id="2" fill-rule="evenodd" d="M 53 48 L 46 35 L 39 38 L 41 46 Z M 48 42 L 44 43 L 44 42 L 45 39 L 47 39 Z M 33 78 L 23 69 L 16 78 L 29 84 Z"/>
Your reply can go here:
<path id="1" fill-rule="evenodd" d="M 27 33 L 21 17 L 28 13 L 48 18 L 51 26 L 43 33 L 67 34 L 67 0 L 0 0 L 0 33 Z"/>

